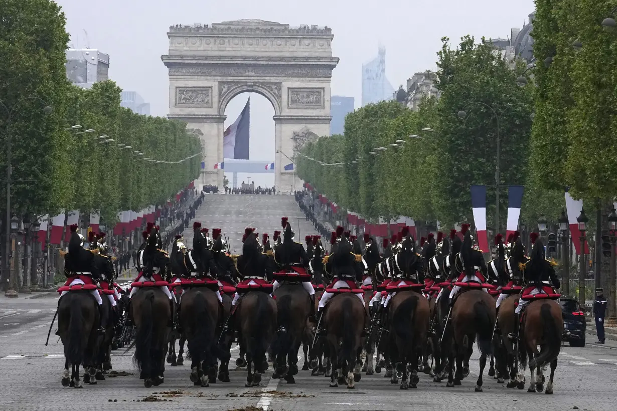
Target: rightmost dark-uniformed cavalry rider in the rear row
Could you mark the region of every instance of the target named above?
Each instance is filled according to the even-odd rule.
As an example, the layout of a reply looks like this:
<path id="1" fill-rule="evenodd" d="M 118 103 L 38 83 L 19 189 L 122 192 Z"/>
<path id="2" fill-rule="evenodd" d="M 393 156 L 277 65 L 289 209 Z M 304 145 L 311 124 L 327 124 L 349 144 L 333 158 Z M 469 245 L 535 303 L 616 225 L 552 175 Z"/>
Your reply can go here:
<path id="1" fill-rule="evenodd" d="M 517 324 L 517 330 L 521 324 L 521 313 L 531 301 L 528 298 L 524 299 L 525 296 L 539 294 L 557 295 L 559 293 L 560 282 L 559 277 L 557 277 L 555 273 L 555 263 L 545 258 L 544 245 L 538 240 L 538 237 L 539 235 L 535 232 L 529 235 L 532 243 L 529 261 L 520 263 L 526 285 L 523 288 L 521 298 L 518 300 L 518 306 L 516 306 L 515 310 L 515 324 Z M 547 298 L 549 297 L 547 296 Z M 565 331 L 561 338 L 566 338 L 568 334 L 569 332 Z M 511 332 L 508 338 L 510 338 L 510 340 L 516 340 L 515 333 Z"/>

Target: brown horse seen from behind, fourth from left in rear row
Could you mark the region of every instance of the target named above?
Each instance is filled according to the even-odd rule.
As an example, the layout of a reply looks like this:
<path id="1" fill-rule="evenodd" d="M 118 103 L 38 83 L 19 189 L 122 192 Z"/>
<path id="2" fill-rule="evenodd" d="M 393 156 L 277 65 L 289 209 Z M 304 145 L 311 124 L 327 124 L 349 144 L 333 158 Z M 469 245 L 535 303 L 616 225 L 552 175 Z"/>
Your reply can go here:
<path id="1" fill-rule="evenodd" d="M 246 386 L 257 386 L 268 368 L 266 352 L 276 332 L 276 303 L 265 292 L 250 291 L 238 301 L 234 315 L 238 318 L 240 351 L 246 352 Z"/>

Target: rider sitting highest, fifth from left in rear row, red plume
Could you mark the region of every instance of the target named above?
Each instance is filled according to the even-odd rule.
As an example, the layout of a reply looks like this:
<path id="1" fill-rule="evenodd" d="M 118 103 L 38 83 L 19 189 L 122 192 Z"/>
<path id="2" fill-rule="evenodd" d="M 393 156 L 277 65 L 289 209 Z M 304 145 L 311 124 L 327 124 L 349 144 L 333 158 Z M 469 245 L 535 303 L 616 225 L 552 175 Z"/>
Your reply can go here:
<path id="1" fill-rule="evenodd" d="M 294 242 L 294 230 L 291 229 L 288 218 L 281 218 L 281 225 L 283 226 L 283 243 L 275 246 L 274 248 L 274 261 L 278 266 L 279 272 L 307 274 L 307 267 L 309 267 L 309 256 L 304 250 L 304 246 L 300 243 Z M 307 236 L 312 241 L 312 236 Z M 307 240 L 308 241 L 308 240 Z M 302 287 L 309 293 L 311 301 L 310 319 L 315 320 L 315 288 L 313 288 L 310 280 L 302 281 Z M 272 292 L 276 288 L 281 286 L 278 280 L 272 284 Z"/>

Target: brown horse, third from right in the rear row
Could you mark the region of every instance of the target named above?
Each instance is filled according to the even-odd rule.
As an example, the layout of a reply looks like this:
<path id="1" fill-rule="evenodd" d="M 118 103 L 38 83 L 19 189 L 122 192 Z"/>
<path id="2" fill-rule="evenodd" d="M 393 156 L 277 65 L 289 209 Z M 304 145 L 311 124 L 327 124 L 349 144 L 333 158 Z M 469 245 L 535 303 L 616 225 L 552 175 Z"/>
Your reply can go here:
<path id="1" fill-rule="evenodd" d="M 400 378 L 400 389 L 416 388 L 420 381 L 418 360 L 423 359 L 426 352 L 430 318 L 428 300 L 418 291 L 397 291 L 390 304 L 388 323 L 392 332 L 389 351 L 397 371 L 392 374 L 392 380 Z"/>

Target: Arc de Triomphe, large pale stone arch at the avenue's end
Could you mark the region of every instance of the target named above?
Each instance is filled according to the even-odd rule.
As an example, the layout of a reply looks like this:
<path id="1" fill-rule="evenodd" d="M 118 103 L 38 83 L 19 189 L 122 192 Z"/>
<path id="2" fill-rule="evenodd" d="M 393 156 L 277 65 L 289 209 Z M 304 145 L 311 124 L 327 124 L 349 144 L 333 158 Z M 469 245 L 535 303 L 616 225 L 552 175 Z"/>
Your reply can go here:
<path id="1" fill-rule="evenodd" d="M 200 183 L 223 187 L 224 171 L 214 166 L 223 161 L 225 107 L 251 91 L 274 107 L 276 189 L 301 187 L 295 167 L 283 167 L 307 141 L 329 135 L 330 78 L 339 62 L 332 56 L 332 30 L 235 20 L 171 26 L 167 36 L 169 54 L 161 59 L 169 70 L 168 117 L 201 136 Z"/>

